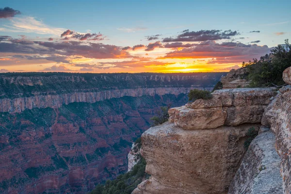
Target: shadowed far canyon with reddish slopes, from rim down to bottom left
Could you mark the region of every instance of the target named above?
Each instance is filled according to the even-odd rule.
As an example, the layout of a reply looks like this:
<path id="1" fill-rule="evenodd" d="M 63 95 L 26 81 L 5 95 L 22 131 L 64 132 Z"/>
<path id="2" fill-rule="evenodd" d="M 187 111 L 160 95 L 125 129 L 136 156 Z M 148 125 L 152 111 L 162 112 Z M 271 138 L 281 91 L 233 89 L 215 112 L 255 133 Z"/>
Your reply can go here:
<path id="1" fill-rule="evenodd" d="M 116 178 L 159 107 L 225 74 L 0 74 L 0 193 L 81 194 Z"/>

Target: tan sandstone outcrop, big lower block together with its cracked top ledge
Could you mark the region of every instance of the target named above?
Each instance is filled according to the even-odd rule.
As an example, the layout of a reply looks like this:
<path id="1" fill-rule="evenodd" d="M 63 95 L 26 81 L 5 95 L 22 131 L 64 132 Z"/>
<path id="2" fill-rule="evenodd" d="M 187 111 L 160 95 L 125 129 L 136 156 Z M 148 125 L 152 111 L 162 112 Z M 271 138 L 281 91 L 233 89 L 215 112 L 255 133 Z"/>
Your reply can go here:
<path id="1" fill-rule="evenodd" d="M 139 194 L 225 194 L 246 151 L 247 131 L 259 130 L 273 88 L 217 90 L 209 100 L 169 110 L 168 123 L 142 135 L 151 178 Z M 202 129 L 202 130 L 201 130 Z"/>

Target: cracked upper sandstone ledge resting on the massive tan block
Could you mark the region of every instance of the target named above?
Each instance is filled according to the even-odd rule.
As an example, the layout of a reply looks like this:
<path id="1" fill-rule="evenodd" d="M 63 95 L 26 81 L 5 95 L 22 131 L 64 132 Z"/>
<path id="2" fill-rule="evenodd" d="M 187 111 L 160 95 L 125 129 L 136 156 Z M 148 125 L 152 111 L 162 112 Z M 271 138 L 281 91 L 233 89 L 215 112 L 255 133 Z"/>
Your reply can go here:
<path id="1" fill-rule="evenodd" d="M 170 121 L 190 130 L 259 123 L 275 92 L 273 88 L 225 89 L 214 91 L 212 96 L 170 109 Z"/>

